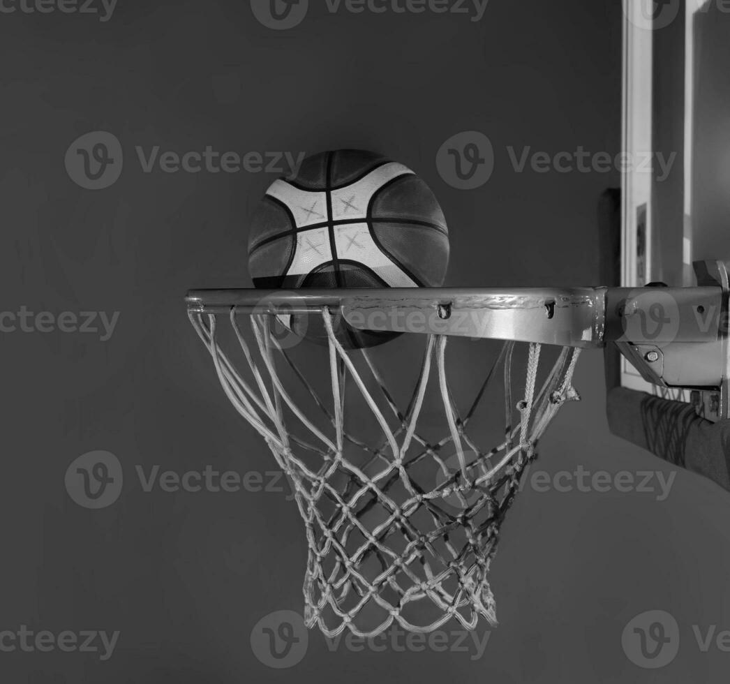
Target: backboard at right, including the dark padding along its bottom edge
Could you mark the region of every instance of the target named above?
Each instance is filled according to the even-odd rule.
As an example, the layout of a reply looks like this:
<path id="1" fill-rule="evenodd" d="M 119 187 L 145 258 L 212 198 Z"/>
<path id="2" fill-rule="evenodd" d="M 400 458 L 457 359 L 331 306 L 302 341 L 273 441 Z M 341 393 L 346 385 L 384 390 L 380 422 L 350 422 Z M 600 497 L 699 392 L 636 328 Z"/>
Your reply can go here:
<path id="1" fill-rule="evenodd" d="M 693 262 L 730 255 L 729 31 L 718 0 L 623 0 L 625 287 L 691 286 Z M 730 489 L 730 421 L 713 415 L 716 395 L 659 388 L 617 363 L 612 432 Z"/>

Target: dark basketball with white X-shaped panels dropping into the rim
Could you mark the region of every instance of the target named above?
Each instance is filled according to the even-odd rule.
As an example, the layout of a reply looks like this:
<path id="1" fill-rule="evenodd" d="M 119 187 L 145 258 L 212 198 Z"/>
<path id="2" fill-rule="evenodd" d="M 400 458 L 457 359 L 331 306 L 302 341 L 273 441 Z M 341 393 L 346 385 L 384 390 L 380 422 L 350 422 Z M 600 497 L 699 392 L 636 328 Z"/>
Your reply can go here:
<path id="1" fill-rule="evenodd" d="M 407 166 L 337 150 L 304 159 L 294 177 L 272 183 L 251 223 L 248 255 L 256 288 L 439 287 L 448 229 L 434 193 Z M 320 316 L 278 318 L 293 333 L 328 343 Z M 333 323 L 348 349 L 397 336 Z"/>

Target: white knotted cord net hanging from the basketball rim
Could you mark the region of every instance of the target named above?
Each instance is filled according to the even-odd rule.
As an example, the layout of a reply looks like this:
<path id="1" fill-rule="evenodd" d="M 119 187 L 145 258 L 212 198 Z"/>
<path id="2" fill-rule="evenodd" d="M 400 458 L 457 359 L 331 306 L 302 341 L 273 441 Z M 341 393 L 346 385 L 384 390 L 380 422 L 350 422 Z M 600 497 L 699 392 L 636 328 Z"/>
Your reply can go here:
<path id="1" fill-rule="evenodd" d="M 270 316 L 231 310 L 242 372 L 221 348 L 215 315 L 191 313 L 228 399 L 293 484 L 309 546 L 307 626 L 328 637 L 345 629 L 373 637 L 393 621 L 415 632 L 452 618 L 475 629 L 480 615 L 495 624 L 488 572 L 499 529 L 550 420 L 565 401 L 579 399 L 571 384 L 579 350 L 562 349 L 538 383 L 541 347 L 525 345 L 518 394 L 517 345 L 504 343 L 461 414 L 447 377 L 447 337 L 424 336 L 420 375 L 401 411 L 372 353 L 345 350 L 331 314 L 324 308 L 321 315 L 326 393 L 272 335 Z M 248 321 L 245 330 L 239 318 Z M 285 388 L 285 376 L 298 387 Z M 467 428 L 497 377 L 504 422 L 496 446 L 483 448 Z M 439 421 L 424 410 L 429 391 L 440 404 L 437 439 L 431 434 Z M 368 426 L 369 438 L 357 426 Z"/>

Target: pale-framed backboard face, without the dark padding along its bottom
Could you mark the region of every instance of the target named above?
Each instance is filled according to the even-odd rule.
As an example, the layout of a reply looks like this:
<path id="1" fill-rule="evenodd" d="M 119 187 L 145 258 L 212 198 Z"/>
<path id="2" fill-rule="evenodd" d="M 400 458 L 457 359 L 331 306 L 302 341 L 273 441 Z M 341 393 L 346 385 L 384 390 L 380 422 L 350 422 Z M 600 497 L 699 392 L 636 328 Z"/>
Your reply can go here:
<path id="1" fill-rule="evenodd" d="M 730 255 L 729 9 L 717 0 L 623 8 L 621 285 L 695 285 L 694 261 Z M 691 400 L 621 364 L 623 387 Z"/>

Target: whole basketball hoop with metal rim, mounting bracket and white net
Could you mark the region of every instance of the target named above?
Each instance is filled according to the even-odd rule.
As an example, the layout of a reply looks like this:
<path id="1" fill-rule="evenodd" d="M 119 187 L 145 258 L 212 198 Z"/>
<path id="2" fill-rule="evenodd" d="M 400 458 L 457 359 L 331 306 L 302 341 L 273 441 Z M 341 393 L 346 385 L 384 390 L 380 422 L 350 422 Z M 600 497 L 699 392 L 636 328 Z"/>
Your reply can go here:
<path id="1" fill-rule="evenodd" d="M 188 293 L 223 391 L 293 483 L 309 546 L 307 626 L 373 637 L 393 622 L 415 632 L 450 618 L 466 629 L 480 616 L 496 622 L 488 573 L 499 530 L 539 439 L 560 407 L 579 399 L 572 377 L 583 348 L 615 342 L 651 382 L 718 396 L 717 417 L 730 418 L 728 269 L 721 261 L 696 269 L 696 288 Z M 721 315 L 700 325 L 698 312 Z M 282 316 L 313 317 L 327 347 L 301 341 L 310 354 L 298 363 L 272 334 Z M 337 325 L 423 342 L 407 399 L 396 400 L 401 388 L 375 359 L 400 340 L 346 350 Z M 223 330 L 233 331 L 227 341 Z M 447 358 L 459 338 L 504 340 L 466 412 L 449 379 L 464 364 Z M 547 364 L 545 346 L 555 355 Z M 393 374 L 404 377 L 400 366 Z M 477 437 L 476 424 L 493 421 L 472 418 L 499 383 L 501 426 L 496 437 Z M 365 437 L 359 423 L 369 423 Z"/>

